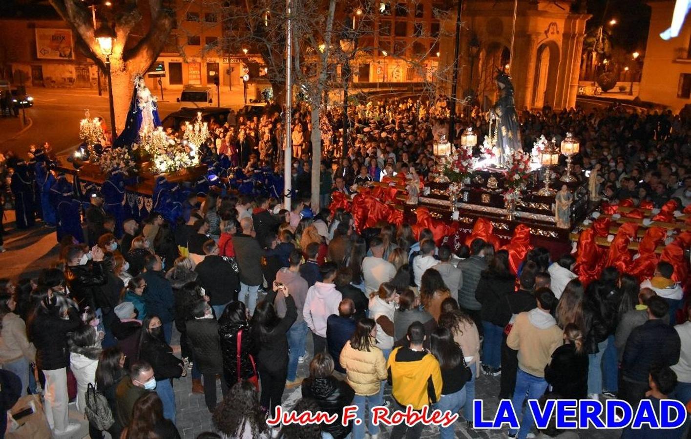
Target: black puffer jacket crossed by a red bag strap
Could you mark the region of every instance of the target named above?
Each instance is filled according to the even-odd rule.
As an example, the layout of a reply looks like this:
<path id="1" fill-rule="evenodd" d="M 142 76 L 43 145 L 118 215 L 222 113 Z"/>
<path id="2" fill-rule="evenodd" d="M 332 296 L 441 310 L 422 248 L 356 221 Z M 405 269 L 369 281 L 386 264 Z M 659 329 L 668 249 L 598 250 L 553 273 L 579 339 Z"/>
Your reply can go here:
<path id="1" fill-rule="evenodd" d="M 223 374 L 228 387 L 232 387 L 238 382 L 238 332 L 240 330 L 243 331 L 243 337 L 240 340 L 240 378 L 252 378 L 255 373 L 252 360 L 249 358 L 251 353 L 255 351 L 254 338 L 252 338 L 252 333 L 249 330 L 249 323 L 225 322 L 220 324 L 218 335 L 221 355 L 223 356 Z"/>

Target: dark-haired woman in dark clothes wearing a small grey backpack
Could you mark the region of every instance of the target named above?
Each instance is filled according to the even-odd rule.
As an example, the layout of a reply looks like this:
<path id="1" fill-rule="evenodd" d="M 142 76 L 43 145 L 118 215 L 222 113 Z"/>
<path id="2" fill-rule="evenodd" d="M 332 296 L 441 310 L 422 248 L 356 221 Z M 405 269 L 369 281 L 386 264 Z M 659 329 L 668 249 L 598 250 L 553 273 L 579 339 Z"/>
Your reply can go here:
<path id="1" fill-rule="evenodd" d="M 113 426 L 108 429 L 108 433 L 111 433 L 111 438 L 120 438 L 120 433 L 122 432 L 122 425 L 120 425 L 120 420 L 117 416 L 117 404 L 115 403 L 115 390 L 117 389 L 117 384 L 120 384 L 120 380 L 127 374 L 124 370 L 125 355 L 117 349 L 117 347 L 112 347 L 104 349 L 101 351 L 98 357 L 98 366 L 96 367 L 96 389 L 103 393 L 108 400 L 108 407 L 111 408 L 111 413 L 113 413 L 113 419 L 115 422 Z M 96 427 L 93 427 L 91 422 L 89 423 L 89 436 L 92 439 L 102 438 L 103 435 L 100 433 Z"/>

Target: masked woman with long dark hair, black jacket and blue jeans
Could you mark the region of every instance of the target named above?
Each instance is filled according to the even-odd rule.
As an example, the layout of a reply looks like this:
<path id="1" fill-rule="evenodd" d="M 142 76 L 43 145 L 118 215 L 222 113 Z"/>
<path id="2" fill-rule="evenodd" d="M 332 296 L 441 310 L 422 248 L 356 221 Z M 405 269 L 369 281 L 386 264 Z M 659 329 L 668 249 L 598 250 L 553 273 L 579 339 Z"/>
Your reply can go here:
<path id="1" fill-rule="evenodd" d="M 139 342 L 139 360 L 151 364 L 156 380 L 156 393 L 163 402 L 163 415 L 176 421 L 175 393 L 173 378 L 187 375 L 182 360 L 173 355 L 173 348 L 166 343 L 163 326 L 158 315 L 150 315 L 142 322 L 142 338 Z"/>

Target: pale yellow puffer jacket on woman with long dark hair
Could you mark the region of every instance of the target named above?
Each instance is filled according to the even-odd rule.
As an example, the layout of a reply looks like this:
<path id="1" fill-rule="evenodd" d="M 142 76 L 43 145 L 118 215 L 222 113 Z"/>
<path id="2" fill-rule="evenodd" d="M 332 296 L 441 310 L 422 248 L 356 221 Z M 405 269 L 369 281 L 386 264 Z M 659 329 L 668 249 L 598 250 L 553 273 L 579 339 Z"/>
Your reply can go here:
<path id="1" fill-rule="evenodd" d="M 374 346 L 370 351 L 358 351 L 350 346 L 350 340 L 341 351 L 341 367 L 345 369 L 345 380 L 356 395 L 370 396 L 379 392 L 381 381 L 386 380 L 386 360 L 381 349 Z"/>

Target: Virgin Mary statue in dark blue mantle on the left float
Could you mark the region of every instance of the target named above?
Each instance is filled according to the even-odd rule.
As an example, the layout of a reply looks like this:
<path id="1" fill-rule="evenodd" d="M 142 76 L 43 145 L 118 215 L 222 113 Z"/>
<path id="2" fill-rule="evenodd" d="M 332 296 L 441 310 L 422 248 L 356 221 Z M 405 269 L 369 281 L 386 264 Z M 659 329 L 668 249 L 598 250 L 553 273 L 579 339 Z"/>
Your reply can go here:
<path id="1" fill-rule="evenodd" d="M 144 83 L 144 77 L 137 75 L 134 79 L 134 90 L 132 101 L 127 111 L 125 129 L 122 130 L 114 146 L 129 146 L 138 142 L 140 133 L 147 130 L 152 133 L 155 127 L 161 126 L 161 119 L 158 117 L 158 99 L 151 95 L 151 91 Z"/>

